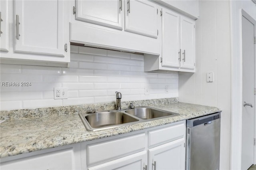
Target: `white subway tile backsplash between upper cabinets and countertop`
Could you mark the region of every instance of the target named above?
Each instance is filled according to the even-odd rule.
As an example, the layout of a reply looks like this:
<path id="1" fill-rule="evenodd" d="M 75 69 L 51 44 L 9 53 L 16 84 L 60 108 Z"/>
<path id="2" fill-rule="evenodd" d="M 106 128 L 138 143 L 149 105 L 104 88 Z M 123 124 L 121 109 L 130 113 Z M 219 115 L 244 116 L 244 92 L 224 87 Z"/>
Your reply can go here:
<path id="1" fill-rule="evenodd" d="M 1 110 L 178 97 L 178 73 L 145 73 L 143 55 L 71 46 L 70 68 L 0 65 Z M 4 87 L 2 82 L 31 82 Z M 169 93 L 165 93 L 165 86 Z M 150 95 L 144 95 L 144 87 Z M 68 87 L 68 99 L 54 100 L 54 87 Z"/>

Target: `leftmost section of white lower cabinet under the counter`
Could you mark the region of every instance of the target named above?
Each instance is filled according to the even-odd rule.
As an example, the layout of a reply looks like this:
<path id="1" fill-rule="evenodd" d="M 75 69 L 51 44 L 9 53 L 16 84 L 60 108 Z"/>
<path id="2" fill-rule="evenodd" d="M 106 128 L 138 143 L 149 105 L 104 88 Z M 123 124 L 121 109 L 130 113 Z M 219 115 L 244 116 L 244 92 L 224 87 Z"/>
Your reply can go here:
<path id="1" fill-rule="evenodd" d="M 24 156 L 7 162 L 1 160 L 1 170 L 78 170 L 81 168 L 80 144 L 30 152 Z"/>

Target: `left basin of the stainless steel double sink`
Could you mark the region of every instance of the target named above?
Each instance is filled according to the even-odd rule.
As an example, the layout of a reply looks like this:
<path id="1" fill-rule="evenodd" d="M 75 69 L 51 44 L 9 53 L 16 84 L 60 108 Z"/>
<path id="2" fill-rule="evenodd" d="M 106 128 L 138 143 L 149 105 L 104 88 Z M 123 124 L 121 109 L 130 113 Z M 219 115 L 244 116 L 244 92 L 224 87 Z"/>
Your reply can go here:
<path id="1" fill-rule="evenodd" d="M 97 130 L 98 128 L 100 128 L 100 130 L 113 128 L 117 125 L 127 125 L 128 123 L 139 121 L 138 119 L 119 111 L 105 111 L 92 114 L 81 113 L 79 116 L 86 129 L 90 131 Z"/>

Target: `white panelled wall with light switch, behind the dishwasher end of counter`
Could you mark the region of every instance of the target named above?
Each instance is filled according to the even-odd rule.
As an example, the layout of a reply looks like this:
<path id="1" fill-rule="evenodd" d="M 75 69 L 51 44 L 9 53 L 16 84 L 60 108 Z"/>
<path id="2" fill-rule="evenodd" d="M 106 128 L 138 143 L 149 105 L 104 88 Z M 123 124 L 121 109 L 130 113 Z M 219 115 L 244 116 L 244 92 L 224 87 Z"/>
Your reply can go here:
<path id="1" fill-rule="evenodd" d="M 196 73 L 179 74 L 179 99 L 222 109 L 220 170 L 230 169 L 231 54 L 229 1 L 200 1 L 196 20 Z M 214 81 L 206 82 L 206 73 Z"/>

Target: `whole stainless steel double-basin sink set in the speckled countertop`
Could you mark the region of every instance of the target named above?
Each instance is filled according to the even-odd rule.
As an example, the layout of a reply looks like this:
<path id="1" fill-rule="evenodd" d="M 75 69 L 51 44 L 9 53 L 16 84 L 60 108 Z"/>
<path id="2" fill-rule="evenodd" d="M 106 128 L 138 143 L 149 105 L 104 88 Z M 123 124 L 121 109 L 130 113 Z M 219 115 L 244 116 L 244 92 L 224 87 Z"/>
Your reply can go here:
<path id="1" fill-rule="evenodd" d="M 96 113 L 79 113 L 79 116 L 88 131 L 103 130 L 108 128 L 132 125 L 145 121 L 162 119 L 179 115 L 155 109 L 152 107 L 136 107 L 121 111 L 100 111 Z"/>

